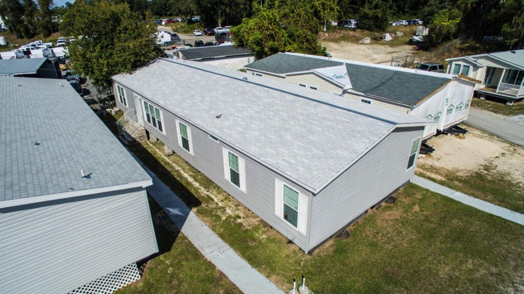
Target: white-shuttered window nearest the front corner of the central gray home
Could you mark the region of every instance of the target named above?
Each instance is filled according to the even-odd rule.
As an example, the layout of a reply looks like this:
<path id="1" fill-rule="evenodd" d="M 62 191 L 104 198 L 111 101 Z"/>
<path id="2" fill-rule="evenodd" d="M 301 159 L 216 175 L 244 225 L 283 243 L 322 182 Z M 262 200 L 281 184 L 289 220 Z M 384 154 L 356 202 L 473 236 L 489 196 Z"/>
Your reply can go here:
<path id="1" fill-rule="evenodd" d="M 293 186 L 275 179 L 275 214 L 291 227 L 306 233 L 309 198 Z"/>

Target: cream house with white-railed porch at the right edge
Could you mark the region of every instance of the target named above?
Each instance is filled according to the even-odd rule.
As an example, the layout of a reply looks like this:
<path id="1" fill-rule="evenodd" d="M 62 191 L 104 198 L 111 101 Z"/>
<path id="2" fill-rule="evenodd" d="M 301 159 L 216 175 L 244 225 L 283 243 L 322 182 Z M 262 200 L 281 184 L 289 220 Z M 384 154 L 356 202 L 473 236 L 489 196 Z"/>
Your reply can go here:
<path id="1" fill-rule="evenodd" d="M 447 73 L 476 80 L 476 96 L 506 100 L 507 105 L 524 98 L 524 49 L 446 59 Z"/>

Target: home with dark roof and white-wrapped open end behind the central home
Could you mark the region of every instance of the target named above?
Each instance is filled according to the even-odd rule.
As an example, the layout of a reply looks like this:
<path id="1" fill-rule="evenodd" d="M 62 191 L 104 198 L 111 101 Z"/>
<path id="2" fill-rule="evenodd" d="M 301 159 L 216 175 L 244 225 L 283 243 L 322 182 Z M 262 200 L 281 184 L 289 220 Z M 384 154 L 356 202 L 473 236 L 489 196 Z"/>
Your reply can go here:
<path id="1" fill-rule="evenodd" d="M 252 75 L 438 122 L 425 130 L 424 140 L 467 118 L 474 85 L 449 74 L 297 53 L 277 53 L 245 68 Z"/>

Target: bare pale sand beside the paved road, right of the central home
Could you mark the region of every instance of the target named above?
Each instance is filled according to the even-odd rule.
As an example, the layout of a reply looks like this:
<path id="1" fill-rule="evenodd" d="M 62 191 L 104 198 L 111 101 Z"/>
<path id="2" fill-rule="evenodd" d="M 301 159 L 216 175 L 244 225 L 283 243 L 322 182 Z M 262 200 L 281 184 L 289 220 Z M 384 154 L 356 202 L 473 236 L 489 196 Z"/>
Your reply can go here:
<path id="1" fill-rule="evenodd" d="M 432 138 L 428 144 L 436 151 L 432 157 L 419 155 L 418 164 L 457 171 L 457 175 L 467 175 L 485 164 L 492 164 L 495 172 L 508 173 L 516 182 L 524 185 L 523 147 L 472 127 L 467 127 L 467 130 L 465 139 L 454 135 Z M 424 168 L 423 172 L 430 171 Z M 434 174 L 432 176 L 441 178 Z"/>

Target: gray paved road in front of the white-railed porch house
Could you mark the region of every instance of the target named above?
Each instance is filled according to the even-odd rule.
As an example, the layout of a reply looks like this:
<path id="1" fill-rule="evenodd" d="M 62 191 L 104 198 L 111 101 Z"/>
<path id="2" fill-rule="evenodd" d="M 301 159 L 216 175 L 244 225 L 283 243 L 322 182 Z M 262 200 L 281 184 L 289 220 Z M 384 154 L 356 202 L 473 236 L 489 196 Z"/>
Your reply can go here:
<path id="1" fill-rule="evenodd" d="M 488 111 L 470 108 L 467 125 L 481 129 L 515 144 L 524 146 L 524 126 L 491 115 Z"/>

